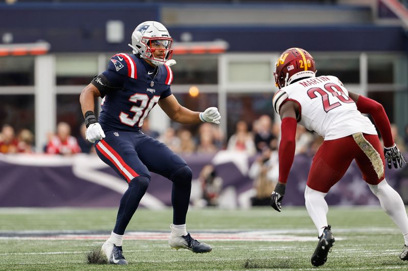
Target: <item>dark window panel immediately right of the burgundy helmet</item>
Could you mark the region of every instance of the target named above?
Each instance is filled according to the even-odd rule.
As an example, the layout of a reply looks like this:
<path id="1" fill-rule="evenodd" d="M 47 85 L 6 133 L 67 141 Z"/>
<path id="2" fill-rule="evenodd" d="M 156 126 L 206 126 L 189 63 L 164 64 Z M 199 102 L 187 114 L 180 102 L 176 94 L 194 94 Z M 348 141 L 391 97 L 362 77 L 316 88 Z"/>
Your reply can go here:
<path id="1" fill-rule="evenodd" d="M 317 76 L 334 75 L 343 83 L 360 83 L 360 57 L 314 54 Z"/>

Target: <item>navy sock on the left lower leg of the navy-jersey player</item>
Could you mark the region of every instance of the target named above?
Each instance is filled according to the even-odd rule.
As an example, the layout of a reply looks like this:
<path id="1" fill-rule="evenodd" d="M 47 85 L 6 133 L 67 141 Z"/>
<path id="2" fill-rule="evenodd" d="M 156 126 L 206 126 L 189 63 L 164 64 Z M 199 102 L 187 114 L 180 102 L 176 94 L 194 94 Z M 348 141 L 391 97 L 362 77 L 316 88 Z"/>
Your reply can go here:
<path id="1" fill-rule="evenodd" d="M 113 232 L 119 235 L 124 234 L 124 230 L 131 221 L 133 214 L 136 212 L 139 202 L 142 199 L 146 189 L 149 186 L 150 178 L 138 176 L 131 180 L 129 188 L 124 192 L 120 199 L 116 225 Z"/>

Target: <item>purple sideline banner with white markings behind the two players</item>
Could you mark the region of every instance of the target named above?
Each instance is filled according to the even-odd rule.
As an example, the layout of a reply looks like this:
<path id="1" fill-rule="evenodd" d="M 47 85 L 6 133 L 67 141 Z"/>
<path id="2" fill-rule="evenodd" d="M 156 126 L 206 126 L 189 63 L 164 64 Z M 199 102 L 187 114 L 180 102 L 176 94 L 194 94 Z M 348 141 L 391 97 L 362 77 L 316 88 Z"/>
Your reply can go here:
<path id="1" fill-rule="evenodd" d="M 222 150 L 214 155 L 183 158 L 193 171 L 191 202 L 200 197 L 198 176 L 201 169 L 212 164 L 223 179 L 220 197 L 223 202 L 230 202 L 224 207 L 248 207 L 253 195 L 253 180 L 248 177 L 248 169 L 256 157 Z M 311 161 L 307 155 L 295 157 L 285 206 L 304 204 L 303 192 Z M 127 183 L 95 155 L 0 155 L 0 172 L 0 207 L 117 207 L 127 189 Z M 400 172 L 387 168 L 386 178 L 404 198 L 408 177 Z M 170 206 L 171 187 L 170 180 L 151 173 L 150 185 L 140 205 L 147 208 Z M 329 191 L 326 200 L 329 205 L 379 204 L 355 163 Z"/>

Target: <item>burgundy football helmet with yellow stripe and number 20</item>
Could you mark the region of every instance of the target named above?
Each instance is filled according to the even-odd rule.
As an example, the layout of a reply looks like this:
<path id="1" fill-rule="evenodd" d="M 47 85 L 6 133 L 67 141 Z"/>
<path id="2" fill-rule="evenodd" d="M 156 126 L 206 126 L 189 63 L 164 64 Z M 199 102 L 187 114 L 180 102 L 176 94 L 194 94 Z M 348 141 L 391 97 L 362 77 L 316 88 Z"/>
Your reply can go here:
<path id="1" fill-rule="evenodd" d="M 310 53 L 302 48 L 287 49 L 277 59 L 273 75 L 279 89 L 296 79 L 315 77 L 315 60 Z"/>

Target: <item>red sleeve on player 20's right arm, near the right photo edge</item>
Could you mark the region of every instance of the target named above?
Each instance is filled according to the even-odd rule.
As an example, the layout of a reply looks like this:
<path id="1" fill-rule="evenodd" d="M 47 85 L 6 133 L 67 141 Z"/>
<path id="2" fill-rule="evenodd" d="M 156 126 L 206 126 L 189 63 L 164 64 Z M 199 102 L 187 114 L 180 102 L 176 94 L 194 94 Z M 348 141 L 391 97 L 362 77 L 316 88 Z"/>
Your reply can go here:
<path id="1" fill-rule="evenodd" d="M 381 134 L 382 141 L 384 141 L 384 146 L 393 146 L 394 140 L 391 134 L 391 125 L 384 107 L 380 103 L 360 95 L 359 100 L 357 100 L 357 109 L 373 117 L 375 126 Z"/>

